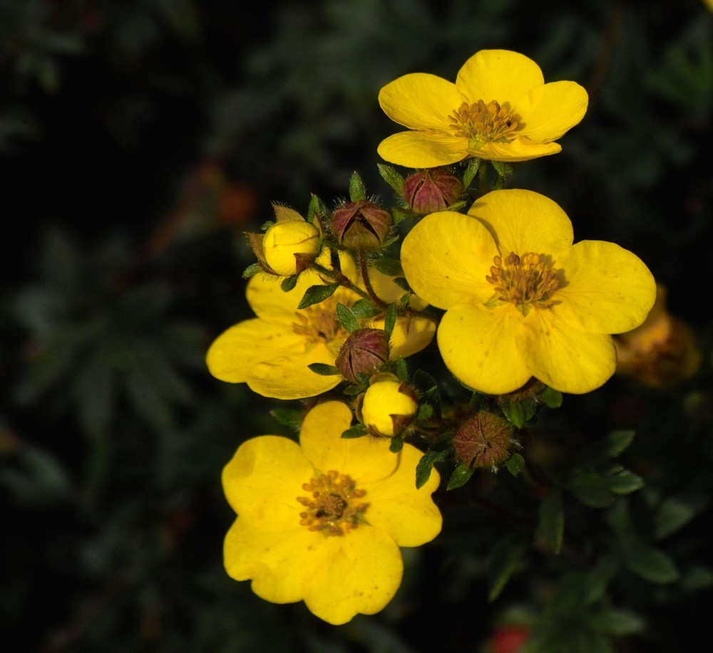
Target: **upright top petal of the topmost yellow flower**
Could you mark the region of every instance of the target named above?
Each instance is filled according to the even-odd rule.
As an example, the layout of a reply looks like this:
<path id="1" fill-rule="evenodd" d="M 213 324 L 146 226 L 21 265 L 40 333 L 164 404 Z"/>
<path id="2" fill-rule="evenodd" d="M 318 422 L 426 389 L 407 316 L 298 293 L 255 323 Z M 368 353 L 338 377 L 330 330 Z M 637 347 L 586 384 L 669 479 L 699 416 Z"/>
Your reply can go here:
<path id="1" fill-rule="evenodd" d="M 530 89 L 545 83 L 542 70 L 532 59 L 509 50 L 476 52 L 458 71 L 456 86 L 468 104 L 496 100 L 515 103 Z"/>

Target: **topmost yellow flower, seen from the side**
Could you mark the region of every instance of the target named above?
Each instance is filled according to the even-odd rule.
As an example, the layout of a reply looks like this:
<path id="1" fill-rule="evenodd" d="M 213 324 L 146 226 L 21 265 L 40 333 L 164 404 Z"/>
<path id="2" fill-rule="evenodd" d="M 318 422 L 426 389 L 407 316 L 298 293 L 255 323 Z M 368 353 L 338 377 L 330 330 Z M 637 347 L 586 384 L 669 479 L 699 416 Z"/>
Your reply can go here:
<path id="1" fill-rule="evenodd" d="M 408 127 L 381 141 L 381 158 L 430 168 L 479 157 L 525 161 L 560 152 L 554 141 L 582 120 L 588 95 L 578 83 L 545 84 L 539 66 L 508 50 L 481 50 L 456 83 L 411 73 L 386 84 L 379 104 Z"/>

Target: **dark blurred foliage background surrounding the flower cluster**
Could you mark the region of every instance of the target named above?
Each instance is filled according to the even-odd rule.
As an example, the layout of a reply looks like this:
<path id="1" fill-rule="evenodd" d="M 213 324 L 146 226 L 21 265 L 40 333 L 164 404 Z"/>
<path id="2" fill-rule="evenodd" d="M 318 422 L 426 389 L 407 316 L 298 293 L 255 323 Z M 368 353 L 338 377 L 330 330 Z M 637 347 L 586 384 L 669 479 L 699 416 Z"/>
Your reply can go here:
<path id="1" fill-rule="evenodd" d="M 344 627 L 222 570 L 220 471 L 292 435 L 207 344 L 249 313 L 242 231 L 270 201 L 391 196 L 376 95 L 482 48 L 590 93 L 563 152 L 516 166 L 577 239 L 646 261 L 698 375 L 615 377 L 530 427 L 541 476 L 436 501 L 396 599 Z M 702 2 L 0 0 L 0 630 L 13 651 L 675 653 L 707 635 L 713 548 L 713 13 Z M 424 352 L 429 356 L 429 352 Z M 433 361 L 429 361 L 429 365 Z M 453 388 L 458 392 L 458 388 Z M 294 402 L 294 409 L 301 404 Z M 499 653 L 499 652 L 498 652 Z"/>

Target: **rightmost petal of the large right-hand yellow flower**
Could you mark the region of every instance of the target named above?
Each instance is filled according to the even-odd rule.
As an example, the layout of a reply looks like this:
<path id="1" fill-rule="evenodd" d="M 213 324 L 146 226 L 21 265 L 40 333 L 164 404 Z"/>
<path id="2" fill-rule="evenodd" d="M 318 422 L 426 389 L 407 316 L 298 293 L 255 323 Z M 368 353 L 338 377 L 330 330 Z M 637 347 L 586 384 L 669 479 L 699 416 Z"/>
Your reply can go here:
<path id="1" fill-rule="evenodd" d="M 557 318 L 578 330 L 624 333 L 640 325 L 656 299 L 656 281 L 643 261 L 605 241 L 580 241 L 557 266 L 567 286 L 557 291 Z"/>

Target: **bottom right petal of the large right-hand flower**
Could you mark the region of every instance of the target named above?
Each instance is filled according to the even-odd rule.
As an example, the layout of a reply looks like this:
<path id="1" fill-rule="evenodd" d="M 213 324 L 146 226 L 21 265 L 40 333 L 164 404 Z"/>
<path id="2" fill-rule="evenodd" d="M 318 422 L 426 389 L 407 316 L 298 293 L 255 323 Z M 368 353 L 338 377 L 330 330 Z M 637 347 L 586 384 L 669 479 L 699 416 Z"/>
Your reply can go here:
<path id="1" fill-rule="evenodd" d="M 610 335 L 575 330 L 547 309 L 528 315 L 530 336 L 525 345 L 534 377 L 560 392 L 582 395 L 603 385 L 616 369 Z"/>

